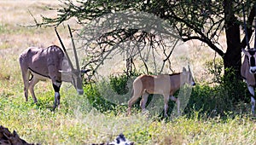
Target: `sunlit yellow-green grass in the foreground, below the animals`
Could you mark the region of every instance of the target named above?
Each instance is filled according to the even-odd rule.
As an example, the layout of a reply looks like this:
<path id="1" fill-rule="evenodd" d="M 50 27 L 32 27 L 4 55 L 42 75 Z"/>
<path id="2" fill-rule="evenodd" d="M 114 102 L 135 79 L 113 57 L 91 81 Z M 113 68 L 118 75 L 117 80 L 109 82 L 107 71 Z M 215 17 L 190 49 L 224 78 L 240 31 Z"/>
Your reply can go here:
<path id="1" fill-rule="evenodd" d="M 1 84 L 7 82 L 1 81 Z M 21 80 L 2 91 L 0 125 L 17 131 L 27 142 L 42 144 L 90 144 L 113 141 L 123 132 L 137 144 L 255 144 L 255 120 L 245 114 L 212 118 L 194 111 L 175 119 L 155 119 L 141 115 L 136 108 L 129 117 L 125 108 L 111 107 L 100 113 L 90 96 L 61 89 L 61 108 L 51 111 L 54 92 L 50 83 L 38 84 L 38 104 L 32 97 L 25 102 Z M 64 84 L 65 85 L 65 84 Z M 3 85 L 4 86 L 4 85 Z M 44 88 L 40 88 L 44 86 Z M 87 88 L 88 89 L 88 88 Z M 87 90 L 86 87 L 84 90 Z M 90 92 L 91 93 L 91 92 Z M 88 94 L 88 92 L 85 92 Z M 100 105 L 100 104 L 99 104 Z"/>

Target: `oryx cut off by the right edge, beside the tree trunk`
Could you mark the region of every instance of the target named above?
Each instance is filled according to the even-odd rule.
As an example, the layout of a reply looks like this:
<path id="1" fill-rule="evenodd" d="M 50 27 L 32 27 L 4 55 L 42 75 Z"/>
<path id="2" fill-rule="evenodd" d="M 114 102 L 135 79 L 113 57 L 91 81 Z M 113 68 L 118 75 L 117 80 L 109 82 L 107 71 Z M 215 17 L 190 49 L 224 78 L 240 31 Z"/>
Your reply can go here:
<path id="1" fill-rule="evenodd" d="M 247 88 L 251 95 L 251 104 L 252 104 L 252 113 L 254 114 L 255 107 L 255 98 L 254 98 L 254 89 L 256 87 L 256 38 L 254 40 L 254 48 L 250 48 L 247 36 L 247 26 L 245 20 L 244 7 L 242 8 L 243 12 L 243 22 L 244 22 L 244 31 L 246 34 L 246 43 L 247 50 L 241 49 L 245 54 L 244 61 L 241 64 L 241 77 L 247 82 Z M 256 20 L 255 26 L 256 26 Z M 254 28 L 254 33 L 256 34 L 256 27 Z"/>

